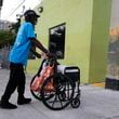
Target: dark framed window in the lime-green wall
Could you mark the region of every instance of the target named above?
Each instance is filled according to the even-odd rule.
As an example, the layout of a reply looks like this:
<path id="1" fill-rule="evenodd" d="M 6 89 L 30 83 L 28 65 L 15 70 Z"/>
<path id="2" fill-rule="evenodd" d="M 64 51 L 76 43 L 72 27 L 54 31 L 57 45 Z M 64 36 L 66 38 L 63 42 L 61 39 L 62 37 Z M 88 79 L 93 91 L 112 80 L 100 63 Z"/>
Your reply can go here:
<path id="1" fill-rule="evenodd" d="M 49 50 L 55 53 L 57 58 L 65 56 L 65 23 L 49 29 Z"/>

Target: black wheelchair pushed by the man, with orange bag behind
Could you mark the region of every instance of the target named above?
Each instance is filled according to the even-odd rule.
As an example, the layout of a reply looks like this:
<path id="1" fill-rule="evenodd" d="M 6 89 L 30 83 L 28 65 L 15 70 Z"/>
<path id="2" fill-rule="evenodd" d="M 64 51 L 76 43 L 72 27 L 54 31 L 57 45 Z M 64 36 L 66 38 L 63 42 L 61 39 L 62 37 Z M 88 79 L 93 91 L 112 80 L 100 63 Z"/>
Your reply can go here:
<path id="1" fill-rule="evenodd" d="M 41 74 L 42 67 L 45 70 L 42 72 L 44 77 Z M 60 67 L 63 68 L 55 57 L 44 60 L 30 81 L 30 92 L 52 110 L 62 110 L 69 104 L 72 108 L 78 108 L 80 106 L 80 69 L 77 66 L 64 66 L 61 70 Z M 36 78 L 39 81 L 43 79 L 37 90 L 31 88 Z"/>

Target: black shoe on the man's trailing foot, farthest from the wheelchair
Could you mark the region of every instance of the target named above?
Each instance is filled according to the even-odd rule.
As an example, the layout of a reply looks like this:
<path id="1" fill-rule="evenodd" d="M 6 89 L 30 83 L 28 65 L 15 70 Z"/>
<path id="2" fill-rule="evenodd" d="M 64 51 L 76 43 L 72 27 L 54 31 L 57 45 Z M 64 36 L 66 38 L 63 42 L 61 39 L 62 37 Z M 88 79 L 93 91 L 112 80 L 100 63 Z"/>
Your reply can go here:
<path id="1" fill-rule="evenodd" d="M 0 102 L 0 107 L 4 108 L 4 109 L 15 109 L 15 108 L 17 108 L 16 105 L 14 105 L 12 103 L 9 103 L 9 102 L 3 102 L 3 101 Z"/>

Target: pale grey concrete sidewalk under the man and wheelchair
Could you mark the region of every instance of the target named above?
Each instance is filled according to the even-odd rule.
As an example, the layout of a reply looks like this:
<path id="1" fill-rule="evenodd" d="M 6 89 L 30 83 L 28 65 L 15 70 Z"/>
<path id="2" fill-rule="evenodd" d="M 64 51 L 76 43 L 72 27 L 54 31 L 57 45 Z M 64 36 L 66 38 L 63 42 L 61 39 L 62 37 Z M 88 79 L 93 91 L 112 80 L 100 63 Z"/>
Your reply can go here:
<path id="1" fill-rule="evenodd" d="M 0 69 L 0 96 L 2 95 L 9 70 Z M 29 105 L 18 106 L 17 109 L 0 108 L 0 119 L 119 119 L 119 92 L 105 90 L 94 85 L 81 85 L 81 105 L 74 109 L 70 105 L 64 110 L 50 110 L 42 102 L 37 101 L 29 91 L 31 76 L 27 75 L 26 96 L 31 96 Z M 16 104 L 15 92 L 11 102 Z"/>

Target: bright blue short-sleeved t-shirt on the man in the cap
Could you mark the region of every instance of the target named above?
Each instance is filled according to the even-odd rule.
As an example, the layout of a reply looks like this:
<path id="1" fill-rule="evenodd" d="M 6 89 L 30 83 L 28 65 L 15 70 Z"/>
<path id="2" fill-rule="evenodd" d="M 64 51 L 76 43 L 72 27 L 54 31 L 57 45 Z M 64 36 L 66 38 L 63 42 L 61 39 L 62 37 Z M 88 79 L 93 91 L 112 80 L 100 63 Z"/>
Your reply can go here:
<path id="1" fill-rule="evenodd" d="M 35 28 L 31 23 L 25 22 L 19 27 L 14 45 L 10 52 L 10 62 L 23 65 L 27 64 L 28 53 L 31 47 L 29 38 L 35 38 Z"/>

